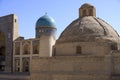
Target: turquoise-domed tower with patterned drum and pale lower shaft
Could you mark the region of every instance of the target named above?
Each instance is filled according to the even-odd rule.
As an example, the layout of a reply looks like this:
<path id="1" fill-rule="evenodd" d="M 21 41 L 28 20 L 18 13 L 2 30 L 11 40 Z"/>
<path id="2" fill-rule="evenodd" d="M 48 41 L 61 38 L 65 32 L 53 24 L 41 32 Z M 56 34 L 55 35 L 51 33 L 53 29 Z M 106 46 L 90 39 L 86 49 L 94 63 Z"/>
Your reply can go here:
<path id="1" fill-rule="evenodd" d="M 54 19 L 47 14 L 36 22 L 36 38 L 40 38 L 40 57 L 52 56 L 52 48 L 56 42 L 56 30 Z"/>

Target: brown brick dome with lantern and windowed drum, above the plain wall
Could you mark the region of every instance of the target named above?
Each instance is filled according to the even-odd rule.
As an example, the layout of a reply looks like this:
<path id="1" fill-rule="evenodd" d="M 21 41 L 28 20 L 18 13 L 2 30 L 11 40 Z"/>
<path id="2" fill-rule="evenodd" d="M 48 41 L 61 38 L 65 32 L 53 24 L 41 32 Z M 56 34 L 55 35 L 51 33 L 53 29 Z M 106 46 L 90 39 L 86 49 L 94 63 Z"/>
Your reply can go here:
<path id="1" fill-rule="evenodd" d="M 77 53 L 106 55 L 111 48 L 118 49 L 118 33 L 108 23 L 97 18 L 95 11 L 95 7 L 90 4 L 80 7 L 79 17 L 66 27 L 55 44 L 56 56 Z"/>

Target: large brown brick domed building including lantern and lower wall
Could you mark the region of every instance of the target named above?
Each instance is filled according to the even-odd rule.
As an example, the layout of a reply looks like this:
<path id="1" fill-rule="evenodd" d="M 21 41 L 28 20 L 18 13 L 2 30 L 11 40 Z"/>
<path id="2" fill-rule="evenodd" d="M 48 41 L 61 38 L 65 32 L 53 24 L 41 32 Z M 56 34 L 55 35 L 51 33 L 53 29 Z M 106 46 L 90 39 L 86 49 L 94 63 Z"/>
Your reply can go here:
<path id="1" fill-rule="evenodd" d="M 32 59 L 31 79 L 119 80 L 119 49 L 118 33 L 85 3 L 56 40 L 53 56 Z"/>

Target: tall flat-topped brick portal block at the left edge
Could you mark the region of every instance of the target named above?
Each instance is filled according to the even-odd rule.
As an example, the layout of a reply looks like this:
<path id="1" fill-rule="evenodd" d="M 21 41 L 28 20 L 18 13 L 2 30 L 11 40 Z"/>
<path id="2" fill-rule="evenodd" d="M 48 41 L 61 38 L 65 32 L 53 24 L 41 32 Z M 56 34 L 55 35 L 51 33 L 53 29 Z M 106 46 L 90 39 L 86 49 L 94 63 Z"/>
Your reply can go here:
<path id="1" fill-rule="evenodd" d="M 12 71 L 13 41 L 18 38 L 17 16 L 0 17 L 0 71 Z"/>

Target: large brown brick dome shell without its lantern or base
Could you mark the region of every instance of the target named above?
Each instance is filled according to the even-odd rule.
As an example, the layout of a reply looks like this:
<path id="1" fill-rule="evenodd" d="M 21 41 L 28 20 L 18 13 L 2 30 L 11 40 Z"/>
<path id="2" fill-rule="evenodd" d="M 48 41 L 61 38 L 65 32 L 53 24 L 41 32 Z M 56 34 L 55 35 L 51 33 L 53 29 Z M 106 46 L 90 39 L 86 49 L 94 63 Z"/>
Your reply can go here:
<path id="1" fill-rule="evenodd" d="M 57 42 L 95 41 L 96 38 L 115 39 L 118 33 L 105 21 L 93 16 L 74 20 L 60 35 Z"/>

